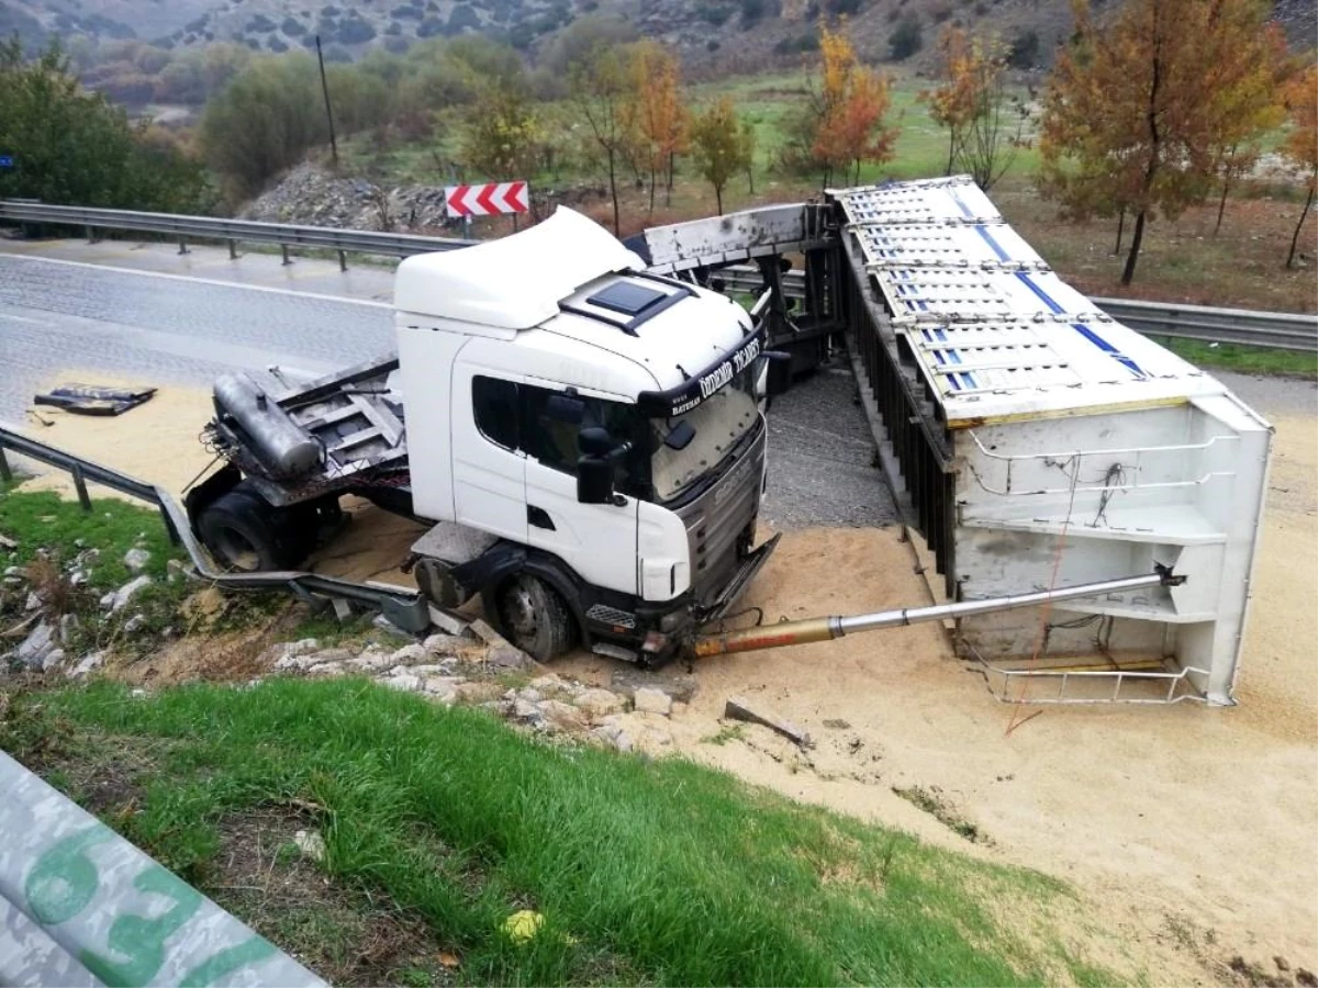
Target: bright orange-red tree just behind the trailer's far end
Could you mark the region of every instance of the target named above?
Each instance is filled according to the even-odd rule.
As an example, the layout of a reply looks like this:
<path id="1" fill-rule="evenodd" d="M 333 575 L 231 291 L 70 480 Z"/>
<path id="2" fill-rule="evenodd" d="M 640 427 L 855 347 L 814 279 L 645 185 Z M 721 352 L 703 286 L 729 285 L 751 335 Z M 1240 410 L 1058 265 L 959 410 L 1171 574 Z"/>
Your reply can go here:
<path id="1" fill-rule="evenodd" d="M 888 78 L 859 63 L 842 30 L 820 30 L 821 80 L 816 95 L 818 126 L 812 153 L 824 167 L 824 184 L 833 173 L 854 169 L 859 180 L 863 162 L 892 158 L 896 130 L 883 125 L 892 107 Z"/>

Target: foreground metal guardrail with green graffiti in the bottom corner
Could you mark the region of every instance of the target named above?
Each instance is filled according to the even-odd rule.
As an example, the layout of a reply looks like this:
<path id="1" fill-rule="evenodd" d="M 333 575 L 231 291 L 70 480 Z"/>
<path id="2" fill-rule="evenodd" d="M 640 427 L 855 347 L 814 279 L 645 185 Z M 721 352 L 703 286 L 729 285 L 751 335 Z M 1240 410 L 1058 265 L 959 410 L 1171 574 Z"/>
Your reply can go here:
<path id="1" fill-rule="evenodd" d="M 0 754 L 0 985 L 328 988 Z"/>

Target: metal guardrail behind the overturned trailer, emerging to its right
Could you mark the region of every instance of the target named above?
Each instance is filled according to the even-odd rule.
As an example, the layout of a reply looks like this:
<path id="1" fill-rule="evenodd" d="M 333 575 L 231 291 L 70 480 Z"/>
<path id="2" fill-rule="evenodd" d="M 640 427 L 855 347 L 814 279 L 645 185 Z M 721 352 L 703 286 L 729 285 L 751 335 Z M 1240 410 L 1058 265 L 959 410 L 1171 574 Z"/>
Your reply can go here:
<path id="1" fill-rule="evenodd" d="M 722 279 L 731 291 L 754 292 L 762 285 L 755 267 L 724 267 L 713 277 Z M 783 294 L 788 298 L 805 295 L 803 271 L 783 275 Z M 1318 316 L 1136 299 L 1094 299 L 1094 303 L 1116 321 L 1145 336 L 1318 353 Z"/>

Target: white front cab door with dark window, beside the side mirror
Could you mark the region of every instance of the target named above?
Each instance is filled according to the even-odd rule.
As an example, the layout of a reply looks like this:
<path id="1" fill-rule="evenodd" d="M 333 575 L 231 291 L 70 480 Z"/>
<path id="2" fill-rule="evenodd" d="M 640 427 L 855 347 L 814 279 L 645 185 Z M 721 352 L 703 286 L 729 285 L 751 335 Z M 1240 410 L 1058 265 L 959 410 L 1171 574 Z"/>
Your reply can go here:
<path id="1" fill-rule="evenodd" d="M 637 593 L 638 499 L 629 493 L 627 462 L 619 460 L 613 505 L 581 505 L 576 491 L 577 432 L 602 425 L 619 443 L 634 406 L 579 399 L 580 422 L 556 414 L 551 387 L 522 386 L 522 448 L 526 452 L 527 544 L 551 552 L 596 586 Z"/>

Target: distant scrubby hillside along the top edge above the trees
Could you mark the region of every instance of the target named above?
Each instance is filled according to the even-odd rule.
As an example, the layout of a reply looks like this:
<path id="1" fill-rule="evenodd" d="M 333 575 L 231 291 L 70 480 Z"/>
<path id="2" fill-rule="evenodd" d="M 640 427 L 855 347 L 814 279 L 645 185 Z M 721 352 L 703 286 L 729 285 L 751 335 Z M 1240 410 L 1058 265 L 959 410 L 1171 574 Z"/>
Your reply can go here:
<path id="1" fill-rule="evenodd" d="M 1065 36 L 1069 0 L 0 0 L 0 33 L 28 42 L 138 38 L 166 47 L 215 41 L 286 51 L 320 34 L 335 57 L 374 46 L 403 50 L 416 40 L 480 32 L 530 49 L 572 20 L 614 13 L 684 51 L 695 67 L 737 71 L 784 61 L 811 46 L 821 14 L 846 13 L 873 58 L 904 18 L 932 42 L 938 24 L 991 25 L 1006 37 L 1033 32 L 1046 57 Z M 1297 45 L 1318 40 L 1313 0 L 1277 0 L 1277 17 Z"/>

